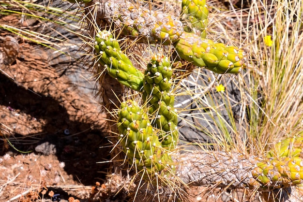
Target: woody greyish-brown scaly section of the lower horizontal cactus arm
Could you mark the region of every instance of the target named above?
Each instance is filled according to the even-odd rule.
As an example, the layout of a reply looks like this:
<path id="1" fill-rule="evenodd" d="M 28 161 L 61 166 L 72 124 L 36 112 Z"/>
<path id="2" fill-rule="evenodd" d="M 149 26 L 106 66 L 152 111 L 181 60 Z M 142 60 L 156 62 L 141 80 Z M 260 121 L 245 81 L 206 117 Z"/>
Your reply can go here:
<path id="1" fill-rule="evenodd" d="M 182 181 L 193 186 L 217 184 L 219 187 L 259 188 L 252 174 L 256 157 L 227 152 L 193 151 L 176 159 Z"/>

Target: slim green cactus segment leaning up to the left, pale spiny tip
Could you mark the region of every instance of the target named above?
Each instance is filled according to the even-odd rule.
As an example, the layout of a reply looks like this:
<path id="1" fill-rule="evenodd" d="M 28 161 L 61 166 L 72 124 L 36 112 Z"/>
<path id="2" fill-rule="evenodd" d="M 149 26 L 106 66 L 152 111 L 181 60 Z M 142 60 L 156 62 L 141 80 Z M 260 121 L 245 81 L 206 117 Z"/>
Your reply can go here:
<path id="1" fill-rule="evenodd" d="M 96 34 L 94 47 L 99 63 L 110 76 L 133 90 L 143 89 L 143 73 L 122 53 L 119 43 L 109 31 L 103 30 Z"/>

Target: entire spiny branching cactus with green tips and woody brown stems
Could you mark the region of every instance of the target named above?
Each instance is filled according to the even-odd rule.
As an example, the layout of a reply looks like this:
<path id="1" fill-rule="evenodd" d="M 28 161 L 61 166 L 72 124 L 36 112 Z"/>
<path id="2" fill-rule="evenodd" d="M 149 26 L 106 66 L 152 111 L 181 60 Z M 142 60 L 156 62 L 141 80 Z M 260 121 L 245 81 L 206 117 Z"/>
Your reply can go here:
<path id="1" fill-rule="evenodd" d="M 103 2 L 99 17 L 112 30 L 135 38 L 137 43 L 173 46 L 180 58 L 198 67 L 220 74 L 241 72 L 248 65 L 242 49 L 205 39 L 208 23 L 205 9 L 204 0 L 183 0 L 181 17 L 186 18 L 185 27 L 175 16 L 124 0 Z M 118 111 L 119 143 L 136 172 L 152 177 L 159 173 L 174 174 L 181 181 L 181 189 L 185 184 L 215 183 L 218 187 L 273 191 L 303 183 L 301 136 L 282 140 L 262 158 L 224 151 L 194 151 L 179 156 L 175 149 L 177 114 L 173 108 L 168 58 L 161 54 L 153 56 L 143 75 L 122 54 L 118 41 L 108 31 L 97 34 L 95 50 L 99 63 L 110 76 L 142 92 L 141 107 L 128 100 L 121 103 Z"/>

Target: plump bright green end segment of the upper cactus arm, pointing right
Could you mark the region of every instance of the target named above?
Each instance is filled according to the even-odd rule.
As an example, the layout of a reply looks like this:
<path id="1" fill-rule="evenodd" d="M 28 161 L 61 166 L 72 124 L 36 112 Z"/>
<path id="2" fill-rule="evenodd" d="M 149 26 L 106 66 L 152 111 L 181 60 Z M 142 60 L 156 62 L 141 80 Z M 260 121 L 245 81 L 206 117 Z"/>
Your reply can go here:
<path id="1" fill-rule="evenodd" d="M 248 65 L 243 50 L 202 39 L 194 33 L 183 32 L 174 46 L 180 58 L 212 72 L 239 73 Z"/>

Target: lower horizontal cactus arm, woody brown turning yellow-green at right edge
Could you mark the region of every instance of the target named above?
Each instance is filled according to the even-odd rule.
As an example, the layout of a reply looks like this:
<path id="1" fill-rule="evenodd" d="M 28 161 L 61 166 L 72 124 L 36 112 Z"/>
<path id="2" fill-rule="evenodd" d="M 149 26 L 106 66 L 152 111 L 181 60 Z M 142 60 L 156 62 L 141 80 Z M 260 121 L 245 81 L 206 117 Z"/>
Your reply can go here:
<path id="1" fill-rule="evenodd" d="M 265 161 L 240 153 L 193 151 L 175 160 L 180 166 L 177 171 L 182 181 L 195 186 L 217 184 L 218 187 L 270 191 L 303 183 L 300 176 L 303 167 L 298 165 L 302 159 Z"/>

